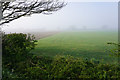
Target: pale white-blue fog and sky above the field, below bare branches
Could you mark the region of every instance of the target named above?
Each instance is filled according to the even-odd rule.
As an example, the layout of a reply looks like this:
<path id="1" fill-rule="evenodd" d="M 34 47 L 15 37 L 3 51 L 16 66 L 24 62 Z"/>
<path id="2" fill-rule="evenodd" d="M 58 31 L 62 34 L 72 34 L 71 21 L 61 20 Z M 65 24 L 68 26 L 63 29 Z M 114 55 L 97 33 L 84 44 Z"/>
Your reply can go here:
<path id="1" fill-rule="evenodd" d="M 9 32 L 117 30 L 117 2 L 68 2 L 51 15 L 34 14 L 14 20 L 2 28 Z"/>

